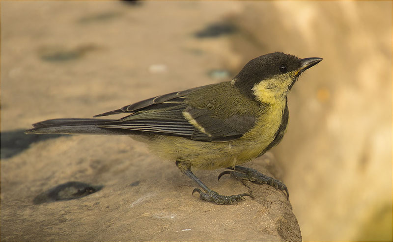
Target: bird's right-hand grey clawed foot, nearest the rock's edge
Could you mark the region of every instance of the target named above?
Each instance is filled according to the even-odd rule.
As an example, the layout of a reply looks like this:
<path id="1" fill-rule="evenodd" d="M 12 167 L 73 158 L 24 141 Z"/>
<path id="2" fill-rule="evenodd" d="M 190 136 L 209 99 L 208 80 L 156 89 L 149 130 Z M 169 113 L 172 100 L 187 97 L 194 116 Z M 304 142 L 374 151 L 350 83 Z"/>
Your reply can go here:
<path id="1" fill-rule="evenodd" d="M 268 184 L 272 187 L 275 187 L 278 190 L 285 191 L 286 199 L 289 199 L 288 189 L 281 181 L 276 180 L 270 176 L 264 175 L 258 172 L 256 169 L 239 167 L 239 166 L 227 167 L 226 169 L 231 169 L 231 170 L 225 170 L 221 172 L 218 175 L 218 180 L 220 180 L 221 176 L 225 174 L 230 174 L 240 180 L 249 180 L 256 184 Z"/>

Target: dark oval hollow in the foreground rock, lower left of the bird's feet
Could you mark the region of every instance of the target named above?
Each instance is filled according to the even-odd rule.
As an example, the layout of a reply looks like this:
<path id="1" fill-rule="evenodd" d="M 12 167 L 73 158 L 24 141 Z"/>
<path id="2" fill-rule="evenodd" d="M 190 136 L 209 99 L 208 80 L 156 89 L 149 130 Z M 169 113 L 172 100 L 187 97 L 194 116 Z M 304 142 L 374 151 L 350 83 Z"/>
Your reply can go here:
<path id="1" fill-rule="evenodd" d="M 92 186 L 83 182 L 71 181 L 38 194 L 34 198 L 33 203 L 41 204 L 45 202 L 76 199 L 93 194 L 102 188 L 103 186 Z"/>

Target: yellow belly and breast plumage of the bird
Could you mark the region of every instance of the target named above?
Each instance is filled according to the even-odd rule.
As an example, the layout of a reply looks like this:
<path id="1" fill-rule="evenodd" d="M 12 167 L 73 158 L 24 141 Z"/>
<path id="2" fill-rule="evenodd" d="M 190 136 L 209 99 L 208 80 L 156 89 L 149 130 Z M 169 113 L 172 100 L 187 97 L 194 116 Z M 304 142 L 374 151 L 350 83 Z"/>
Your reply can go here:
<path id="1" fill-rule="evenodd" d="M 265 110 L 253 128 L 230 142 L 201 142 L 182 137 L 156 135 L 144 140 L 149 149 L 167 160 L 181 161 L 184 169 L 218 169 L 253 160 L 274 140 L 281 124 L 283 105 Z"/>

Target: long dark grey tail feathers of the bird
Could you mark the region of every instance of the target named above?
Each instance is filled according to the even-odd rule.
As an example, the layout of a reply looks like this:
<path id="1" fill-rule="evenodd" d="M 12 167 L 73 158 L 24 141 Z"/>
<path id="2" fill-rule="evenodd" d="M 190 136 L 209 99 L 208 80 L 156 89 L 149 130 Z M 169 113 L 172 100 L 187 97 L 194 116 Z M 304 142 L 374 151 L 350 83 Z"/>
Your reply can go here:
<path id="1" fill-rule="evenodd" d="M 100 134 L 100 135 L 130 135 L 131 132 L 118 128 L 101 128 L 97 124 L 116 120 L 103 119 L 54 119 L 34 123 L 34 128 L 25 133 L 35 134 Z"/>

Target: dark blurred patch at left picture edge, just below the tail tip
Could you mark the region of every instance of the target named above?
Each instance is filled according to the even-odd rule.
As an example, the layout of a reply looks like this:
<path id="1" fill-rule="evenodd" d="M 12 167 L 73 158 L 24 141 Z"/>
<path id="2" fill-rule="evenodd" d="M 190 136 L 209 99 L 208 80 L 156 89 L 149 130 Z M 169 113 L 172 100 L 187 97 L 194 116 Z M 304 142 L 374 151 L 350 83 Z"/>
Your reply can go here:
<path id="1" fill-rule="evenodd" d="M 1 160 L 19 154 L 35 142 L 55 139 L 66 134 L 25 134 L 24 129 L 1 132 Z"/>

